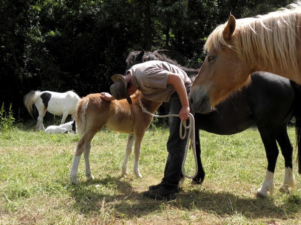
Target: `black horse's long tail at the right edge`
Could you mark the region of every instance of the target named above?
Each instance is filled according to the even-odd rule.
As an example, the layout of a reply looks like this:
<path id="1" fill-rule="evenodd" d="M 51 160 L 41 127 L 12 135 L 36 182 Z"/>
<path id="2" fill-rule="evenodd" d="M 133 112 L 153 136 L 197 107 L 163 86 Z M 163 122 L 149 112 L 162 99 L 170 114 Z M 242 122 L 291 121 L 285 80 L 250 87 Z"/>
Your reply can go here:
<path id="1" fill-rule="evenodd" d="M 301 174 L 301 85 L 291 81 L 295 89 L 293 116 L 295 117 L 295 136 L 298 160 L 298 173 Z"/>

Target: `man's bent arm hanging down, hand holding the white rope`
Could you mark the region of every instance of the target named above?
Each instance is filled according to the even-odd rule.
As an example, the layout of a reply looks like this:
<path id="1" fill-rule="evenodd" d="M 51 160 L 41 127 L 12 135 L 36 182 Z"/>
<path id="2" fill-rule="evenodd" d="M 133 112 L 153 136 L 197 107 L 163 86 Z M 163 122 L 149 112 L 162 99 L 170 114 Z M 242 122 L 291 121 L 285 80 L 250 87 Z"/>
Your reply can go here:
<path id="1" fill-rule="evenodd" d="M 176 89 L 176 91 L 180 97 L 180 101 L 182 104 L 182 108 L 179 111 L 180 119 L 181 120 L 188 119 L 190 108 L 189 108 L 189 101 L 188 101 L 186 87 L 185 87 L 182 77 L 180 76 L 180 74 L 170 73 L 168 76 L 167 83 L 172 84 L 174 86 L 174 88 Z"/>

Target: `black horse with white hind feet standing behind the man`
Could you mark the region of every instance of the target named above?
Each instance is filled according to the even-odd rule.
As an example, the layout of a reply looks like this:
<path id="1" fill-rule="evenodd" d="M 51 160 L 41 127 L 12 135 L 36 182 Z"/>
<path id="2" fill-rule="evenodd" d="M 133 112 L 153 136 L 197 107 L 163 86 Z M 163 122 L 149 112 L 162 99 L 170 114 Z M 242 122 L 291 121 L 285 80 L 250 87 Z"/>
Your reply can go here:
<path id="1" fill-rule="evenodd" d="M 147 60 L 163 60 L 178 65 L 191 77 L 192 81 L 199 69 L 186 68 L 156 50 L 133 51 L 126 58 L 127 68 Z M 205 171 L 201 161 L 200 130 L 215 134 L 230 135 L 242 132 L 254 123 L 258 127 L 268 161 L 266 177 L 257 190 L 257 196 L 271 195 L 274 189 L 274 170 L 279 154 L 277 142 L 284 157 L 285 174 L 280 190 L 290 191 L 295 186 L 292 171 L 293 147 L 287 134 L 287 124 L 295 116 L 296 146 L 298 149 L 298 172 L 301 173 L 301 90 L 299 85 L 281 76 L 268 72 L 255 72 L 251 83 L 235 92 L 216 106 L 210 113 L 195 113 L 196 151 L 198 173 L 193 183 L 202 183 Z"/>

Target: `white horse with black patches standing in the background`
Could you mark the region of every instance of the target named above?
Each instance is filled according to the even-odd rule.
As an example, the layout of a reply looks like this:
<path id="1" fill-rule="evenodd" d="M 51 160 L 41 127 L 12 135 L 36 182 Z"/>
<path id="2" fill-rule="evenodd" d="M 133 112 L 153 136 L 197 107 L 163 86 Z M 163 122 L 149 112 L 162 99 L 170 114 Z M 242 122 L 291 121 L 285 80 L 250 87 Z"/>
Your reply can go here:
<path id="1" fill-rule="evenodd" d="M 75 119 L 75 112 L 79 99 L 80 97 L 72 90 L 64 93 L 49 90 L 32 90 L 24 96 L 23 102 L 32 117 L 34 117 L 33 105 L 36 105 L 36 108 L 39 111 L 36 130 L 44 130 L 43 118 L 47 111 L 54 115 L 63 115 L 61 124 L 65 122 L 69 114 L 71 114 L 73 121 Z"/>

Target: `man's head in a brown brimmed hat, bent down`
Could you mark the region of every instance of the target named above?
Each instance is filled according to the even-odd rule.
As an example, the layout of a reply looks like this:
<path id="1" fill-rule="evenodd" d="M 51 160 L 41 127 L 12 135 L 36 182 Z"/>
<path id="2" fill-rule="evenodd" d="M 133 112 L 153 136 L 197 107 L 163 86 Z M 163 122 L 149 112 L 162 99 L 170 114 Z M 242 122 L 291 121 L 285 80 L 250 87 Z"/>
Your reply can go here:
<path id="1" fill-rule="evenodd" d="M 132 103 L 128 89 L 130 88 L 130 83 L 121 74 L 114 74 L 111 76 L 114 83 L 110 86 L 110 91 L 113 97 L 117 100 L 126 98 L 128 103 Z"/>

